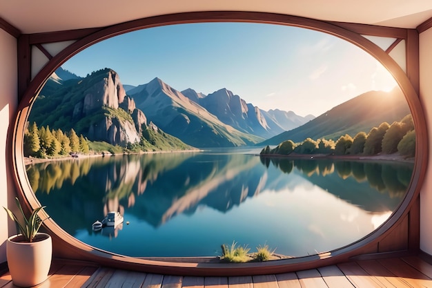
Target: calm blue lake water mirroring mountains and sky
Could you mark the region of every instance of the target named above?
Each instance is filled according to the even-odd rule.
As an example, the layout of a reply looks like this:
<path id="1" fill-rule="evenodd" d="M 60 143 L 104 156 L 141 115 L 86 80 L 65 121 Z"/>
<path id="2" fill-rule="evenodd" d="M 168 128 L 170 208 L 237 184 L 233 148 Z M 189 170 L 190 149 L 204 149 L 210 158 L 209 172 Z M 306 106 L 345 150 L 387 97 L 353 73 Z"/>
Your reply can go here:
<path id="1" fill-rule="evenodd" d="M 249 153 L 79 158 L 28 166 L 28 177 L 57 224 L 107 251 L 217 256 L 221 244 L 235 241 L 251 251 L 268 244 L 279 254 L 306 256 L 376 229 L 402 201 L 413 170 L 397 162 Z M 108 211 L 120 211 L 124 224 L 92 231 Z"/>

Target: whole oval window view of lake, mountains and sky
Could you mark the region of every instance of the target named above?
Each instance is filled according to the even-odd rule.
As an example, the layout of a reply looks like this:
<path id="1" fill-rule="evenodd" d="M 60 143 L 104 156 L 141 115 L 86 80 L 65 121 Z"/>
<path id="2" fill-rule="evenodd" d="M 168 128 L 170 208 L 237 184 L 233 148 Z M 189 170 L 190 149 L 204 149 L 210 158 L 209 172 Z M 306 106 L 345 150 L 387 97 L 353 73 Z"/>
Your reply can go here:
<path id="1" fill-rule="evenodd" d="M 248 261 L 380 227 L 411 181 L 415 132 L 393 77 L 348 41 L 189 23 L 66 61 L 32 105 L 24 154 L 47 213 L 92 247 Z"/>

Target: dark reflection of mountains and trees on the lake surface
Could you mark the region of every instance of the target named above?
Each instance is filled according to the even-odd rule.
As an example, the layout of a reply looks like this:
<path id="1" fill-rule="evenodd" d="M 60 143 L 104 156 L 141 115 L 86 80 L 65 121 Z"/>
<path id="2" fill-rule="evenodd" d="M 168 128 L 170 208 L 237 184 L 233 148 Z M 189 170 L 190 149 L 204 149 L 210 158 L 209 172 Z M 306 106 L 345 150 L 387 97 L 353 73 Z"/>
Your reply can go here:
<path id="1" fill-rule="evenodd" d="M 108 211 L 126 210 L 152 227 L 200 207 L 227 213 L 263 191 L 298 185 L 291 175 L 365 211 L 383 213 L 400 204 L 412 170 L 407 163 L 158 153 L 32 164 L 27 173 L 46 211 L 73 235 L 80 229 L 91 233 L 91 223 Z"/>

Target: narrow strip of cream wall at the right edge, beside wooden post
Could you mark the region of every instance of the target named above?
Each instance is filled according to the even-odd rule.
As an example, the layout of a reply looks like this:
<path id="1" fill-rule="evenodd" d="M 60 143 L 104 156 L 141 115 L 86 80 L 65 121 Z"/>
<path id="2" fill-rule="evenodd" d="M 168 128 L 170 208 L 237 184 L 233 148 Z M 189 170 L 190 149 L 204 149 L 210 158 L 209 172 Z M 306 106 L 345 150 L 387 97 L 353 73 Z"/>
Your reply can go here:
<path id="1" fill-rule="evenodd" d="M 420 249 L 432 255 L 432 28 L 420 34 L 420 100 L 429 134 L 429 167 L 420 193 Z"/>

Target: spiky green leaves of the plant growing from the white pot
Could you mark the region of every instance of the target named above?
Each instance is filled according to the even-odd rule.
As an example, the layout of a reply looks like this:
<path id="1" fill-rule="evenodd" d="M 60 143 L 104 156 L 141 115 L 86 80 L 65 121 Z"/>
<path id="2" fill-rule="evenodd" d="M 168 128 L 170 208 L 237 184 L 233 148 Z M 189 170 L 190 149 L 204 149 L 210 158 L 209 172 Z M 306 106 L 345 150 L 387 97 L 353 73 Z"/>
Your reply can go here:
<path id="1" fill-rule="evenodd" d="M 30 217 L 26 218 L 26 215 L 24 214 L 24 211 L 21 207 L 21 204 L 19 203 L 18 198 L 15 198 L 15 202 L 17 203 L 17 207 L 19 208 L 19 211 L 21 211 L 23 220 L 20 221 L 17 218 L 17 216 L 8 208 L 6 207 L 3 208 L 6 210 L 9 217 L 17 224 L 19 233 L 21 233 L 21 235 L 23 236 L 24 241 L 33 242 L 35 240 L 37 232 L 39 231 L 39 228 L 41 228 L 43 221 L 45 221 L 42 220 L 39 217 L 39 215 L 37 215 L 37 213 L 39 213 L 41 209 L 45 208 L 45 206 L 38 207 L 37 209 L 33 210 L 32 213 L 30 214 Z"/>

